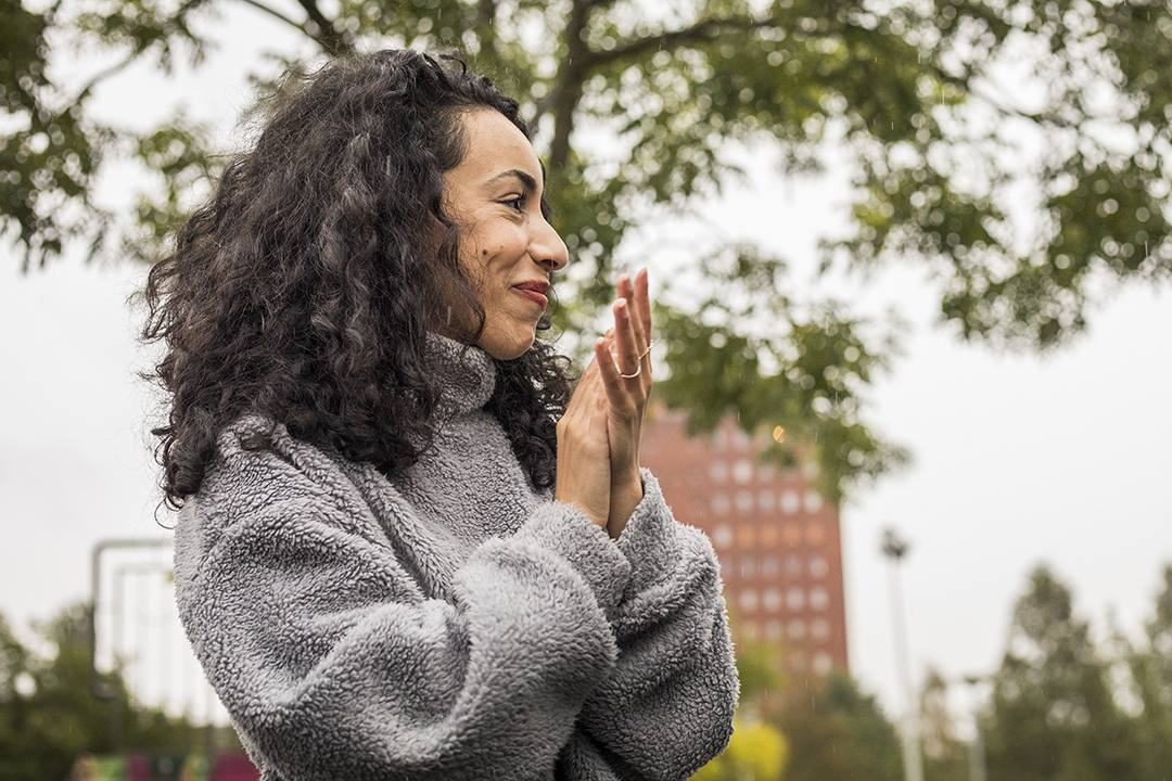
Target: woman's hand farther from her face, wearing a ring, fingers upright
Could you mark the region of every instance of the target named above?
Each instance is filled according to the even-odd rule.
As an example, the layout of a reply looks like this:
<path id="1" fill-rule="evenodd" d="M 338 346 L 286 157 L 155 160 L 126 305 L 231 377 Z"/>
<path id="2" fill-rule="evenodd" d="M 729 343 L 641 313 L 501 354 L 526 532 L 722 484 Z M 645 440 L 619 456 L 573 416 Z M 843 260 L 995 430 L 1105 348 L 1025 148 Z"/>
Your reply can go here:
<path id="1" fill-rule="evenodd" d="M 624 274 L 615 285 L 614 328 L 607 331 L 608 359 L 599 361 L 607 399 L 607 439 L 611 445 L 611 492 L 607 530 L 618 537 L 642 501 L 639 443 L 652 392 L 652 307 L 647 269 L 634 282 Z"/>

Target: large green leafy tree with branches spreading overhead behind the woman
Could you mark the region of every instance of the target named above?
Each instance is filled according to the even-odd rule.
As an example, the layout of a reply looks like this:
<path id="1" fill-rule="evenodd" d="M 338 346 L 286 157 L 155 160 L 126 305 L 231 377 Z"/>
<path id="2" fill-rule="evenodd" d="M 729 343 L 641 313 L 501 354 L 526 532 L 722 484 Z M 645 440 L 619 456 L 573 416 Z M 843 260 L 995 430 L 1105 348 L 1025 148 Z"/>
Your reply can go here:
<path id="1" fill-rule="evenodd" d="M 93 84 L 139 60 L 198 66 L 213 50 L 209 20 L 231 2 L 90 0 L 53 13 L 27 2 L 9 1 L 0 26 L 0 110 L 16 128 L 0 149 L 0 229 L 26 266 L 66 239 L 150 259 L 150 241 L 109 240 L 116 221 L 91 197 L 103 166 L 121 156 L 157 174 L 136 217 L 158 240 L 190 205 L 180 194 L 222 160 L 182 114 L 145 132 L 94 122 Z M 557 227 L 585 269 L 568 280 L 575 308 L 564 326 L 608 297 L 636 220 L 684 212 L 738 180 L 738 144 L 791 174 L 816 174 L 841 151 L 853 221 L 827 237 L 825 267 L 924 263 L 942 317 L 966 338 L 1058 344 L 1085 326 L 1103 281 L 1153 283 L 1172 267 L 1163 0 L 245 5 L 325 56 L 458 47 L 522 96 Z M 47 74 L 73 43 L 115 64 L 70 91 Z M 1029 100 L 1007 81 L 1028 82 Z M 1020 143 L 1029 132 L 1044 138 L 1036 155 Z M 669 292 L 660 317 L 662 395 L 687 405 L 695 427 L 736 413 L 747 430 L 791 432 L 775 454 L 792 459 L 808 443 L 832 499 L 902 460 L 860 413 L 892 351 L 874 323 L 841 302 L 783 295 L 785 262 L 751 246 L 716 242 L 682 279 L 690 293 Z"/>

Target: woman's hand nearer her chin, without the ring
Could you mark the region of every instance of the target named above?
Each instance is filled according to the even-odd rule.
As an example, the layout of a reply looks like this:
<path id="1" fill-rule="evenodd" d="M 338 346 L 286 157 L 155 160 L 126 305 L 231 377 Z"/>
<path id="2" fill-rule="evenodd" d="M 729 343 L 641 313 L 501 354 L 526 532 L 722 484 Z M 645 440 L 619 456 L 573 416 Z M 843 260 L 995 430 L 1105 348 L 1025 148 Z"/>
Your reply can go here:
<path id="1" fill-rule="evenodd" d="M 607 528 L 611 515 L 611 452 L 607 397 L 599 364 L 613 368 L 605 340 L 594 342 L 591 359 L 566 413 L 558 420 L 557 501 L 577 505 L 591 521 Z"/>

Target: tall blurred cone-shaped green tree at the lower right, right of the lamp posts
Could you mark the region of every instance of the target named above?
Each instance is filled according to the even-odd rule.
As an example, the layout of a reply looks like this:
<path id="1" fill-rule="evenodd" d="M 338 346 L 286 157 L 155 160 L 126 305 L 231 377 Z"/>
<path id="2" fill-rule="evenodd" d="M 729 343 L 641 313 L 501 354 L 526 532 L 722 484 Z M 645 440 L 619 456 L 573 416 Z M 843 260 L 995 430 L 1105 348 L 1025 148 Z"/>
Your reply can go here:
<path id="1" fill-rule="evenodd" d="M 1017 601 L 1009 649 L 994 676 L 986 729 L 989 777 L 1139 779 L 1134 724 L 1116 701 L 1110 663 L 1070 589 L 1045 567 Z"/>

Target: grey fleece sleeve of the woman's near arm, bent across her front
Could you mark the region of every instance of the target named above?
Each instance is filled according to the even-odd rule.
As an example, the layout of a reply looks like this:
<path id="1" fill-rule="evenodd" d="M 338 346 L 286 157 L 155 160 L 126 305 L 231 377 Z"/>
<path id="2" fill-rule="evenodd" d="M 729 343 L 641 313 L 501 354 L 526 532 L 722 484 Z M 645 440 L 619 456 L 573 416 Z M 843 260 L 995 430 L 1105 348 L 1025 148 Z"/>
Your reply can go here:
<path id="1" fill-rule="evenodd" d="M 548 774 L 614 664 L 609 614 L 631 571 L 618 547 L 545 502 L 471 554 L 450 600 L 425 598 L 321 460 L 237 453 L 177 529 L 184 626 L 263 769 L 299 781 Z"/>

